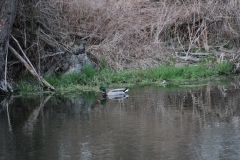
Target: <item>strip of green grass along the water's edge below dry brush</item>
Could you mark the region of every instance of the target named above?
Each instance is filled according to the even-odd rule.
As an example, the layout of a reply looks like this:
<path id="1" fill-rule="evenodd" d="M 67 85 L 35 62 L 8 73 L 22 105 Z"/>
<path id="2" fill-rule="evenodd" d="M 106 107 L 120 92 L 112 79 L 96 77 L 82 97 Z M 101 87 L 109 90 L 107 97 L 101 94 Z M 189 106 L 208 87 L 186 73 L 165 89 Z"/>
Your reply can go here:
<path id="1" fill-rule="evenodd" d="M 189 81 L 199 81 L 208 77 L 217 77 L 219 75 L 229 75 L 232 73 L 232 66 L 230 63 L 218 64 L 215 67 L 208 68 L 199 64 L 198 66 L 179 67 L 160 66 L 156 68 L 148 68 L 144 70 L 123 70 L 115 71 L 108 67 L 103 67 L 100 70 L 86 65 L 82 69 L 81 74 L 69 74 L 60 76 L 44 77 L 57 91 L 82 91 L 82 90 L 96 90 L 99 86 L 113 86 L 121 84 L 124 86 L 134 84 L 147 84 L 162 82 L 167 80 L 172 84 L 179 84 Z M 29 78 L 28 78 L 29 79 Z M 32 78 L 34 79 L 34 78 Z M 35 80 L 36 81 L 36 80 Z M 24 80 L 24 76 L 19 81 L 17 88 L 19 91 L 31 92 L 36 91 L 33 80 L 30 83 Z"/>

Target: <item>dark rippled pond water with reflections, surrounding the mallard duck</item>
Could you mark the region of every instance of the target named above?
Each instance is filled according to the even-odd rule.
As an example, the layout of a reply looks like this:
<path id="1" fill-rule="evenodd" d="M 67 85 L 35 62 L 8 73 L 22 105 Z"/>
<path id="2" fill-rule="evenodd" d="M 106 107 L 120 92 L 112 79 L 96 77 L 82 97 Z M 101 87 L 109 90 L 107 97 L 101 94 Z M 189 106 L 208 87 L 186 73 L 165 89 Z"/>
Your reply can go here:
<path id="1" fill-rule="evenodd" d="M 239 82 L 0 97 L 0 159 L 240 159 Z"/>

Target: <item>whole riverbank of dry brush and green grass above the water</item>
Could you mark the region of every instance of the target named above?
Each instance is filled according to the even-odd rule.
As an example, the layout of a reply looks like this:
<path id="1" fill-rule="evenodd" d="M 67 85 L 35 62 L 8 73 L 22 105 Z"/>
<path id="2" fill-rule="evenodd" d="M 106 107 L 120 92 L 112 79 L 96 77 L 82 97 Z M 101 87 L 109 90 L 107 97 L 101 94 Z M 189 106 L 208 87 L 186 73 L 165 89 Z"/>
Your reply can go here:
<path id="1" fill-rule="evenodd" d="M 27 1 L 16 14 L 9 42 L 15 56 L 11 54 L 2 63 L 2 68 L 7 65 L 2 84 L 14 81 L 13 89 L 18 92 L 45 91 L 32 76 L 23 75 L 19 80 L 26 68 L 40 80 L 41 75 L 59 75 L 44 77 L 57 92 L 94 90 L 99 85 L 160 84 L 163 80 L 192 84 L 207 77 L 231 75 L 231 69 L 224 64 L 215 68 L 215 63 L 231 61 L 239 67 L 239 7 L 237 1 L 220 0 Z M 22 25 L 26 19 L 31 21 Z M 60 75 L 72 69 L 79 71 L 90 61 L 98 67 L 106 63 L 111 69 L 86 69 L 93 72 L 90 76 Z M 200 64 L 199 68 L 176 70 L 164 66 L 181 62 Z M 206 63 L 206 68 L 201 63 Z M 9 91 L 0 88 L 12 90 L 11 85 Z"/>

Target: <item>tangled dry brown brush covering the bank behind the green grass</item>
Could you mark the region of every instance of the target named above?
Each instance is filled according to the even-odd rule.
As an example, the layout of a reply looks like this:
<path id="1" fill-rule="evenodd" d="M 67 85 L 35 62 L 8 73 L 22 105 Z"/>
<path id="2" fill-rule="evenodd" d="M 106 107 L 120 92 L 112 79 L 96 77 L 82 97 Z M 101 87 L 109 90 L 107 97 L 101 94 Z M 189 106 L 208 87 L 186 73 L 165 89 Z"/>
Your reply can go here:
<path id="1" fill-rule="evenodd" d="M 206 53 L 238 62 L 239 10 L 238 0 L 22 1 L 13 36 L 42 73 L 53 66 L 61 72 L 76 37 L 87 41 L 94 63 L 120 70 Z M 17 61 L 9 65 L 22 69 Z"/>

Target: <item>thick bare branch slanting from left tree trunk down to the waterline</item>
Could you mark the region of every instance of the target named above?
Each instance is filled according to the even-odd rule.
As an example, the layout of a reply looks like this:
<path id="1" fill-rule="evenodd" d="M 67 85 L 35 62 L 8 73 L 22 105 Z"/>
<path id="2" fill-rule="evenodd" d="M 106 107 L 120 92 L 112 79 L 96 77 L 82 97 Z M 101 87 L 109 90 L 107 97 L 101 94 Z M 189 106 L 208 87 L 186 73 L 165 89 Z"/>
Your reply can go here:
<path id="1" fill-rule="evenodd" d="M 37 74 L 37 72 L 35 72 L 35 70 L 18 54 L 18 52 L 11 45 L 9 45 L 9 49 L 23 63 L 23 65 L 29 70 L 29 72 L 39 79 L 41 85 L 44 84 L 51 90 L 55 90 L 55 88 L 52 85 L 50 85 L 44 78 L 42 78 Z"/>

